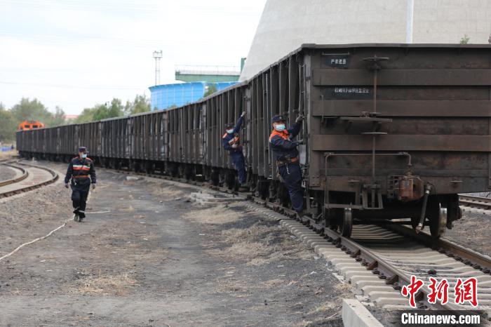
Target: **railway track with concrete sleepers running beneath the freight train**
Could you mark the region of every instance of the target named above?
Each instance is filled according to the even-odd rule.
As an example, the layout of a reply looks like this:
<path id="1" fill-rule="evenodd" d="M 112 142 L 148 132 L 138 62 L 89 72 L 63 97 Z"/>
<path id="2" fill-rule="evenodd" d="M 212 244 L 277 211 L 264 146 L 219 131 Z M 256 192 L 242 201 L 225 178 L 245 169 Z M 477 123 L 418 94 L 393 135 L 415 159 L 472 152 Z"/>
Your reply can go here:
<path id="1" fill-rule="evenodd" d="M 184 180 L 167 175 L 133 173 L 152 178 L 173 180 L 192 185 L 208 186 L 206 182 Z M 232 193 L 225 187 L 210 187 L 221 192 Z M 446 239 L 433 239 L 424 232 L 415 234 L 402 225 L 355 225 L 351 238 L 341 236 L 330 228 L 316 225 L 311 218 L 295 219 L 295 212 L 278 203 L 271 203 L 250 194 L 233 192 L 244 199 L 253 200 L 257 210 L 267 208 L 293 234 L 304 239 L 307 245 L 332 262 L 344 272 L 350 283 L 356 284 L 372 302 L 382 307 L 408 309 L 408 299 L 401 295 L 401 288 L 410 284 L 411 276 L 424 281 L 424 287 L 417 293 L 418 307 L 440 309 L 449 312 L 469 310 L 491 316 L 491 258 Z M 259 205 L 259 206 L 258 206 Z M 286 217 L 285 217 L 286 216 Z M 478 280 L 478 309 L 471 305 L 456 305 L 453 288 L 457 279 L 476 277 Z M 440 281 L 445 278 L 449 284 L 449 301 L 445 305 L 430 304 L 429 278 Z"/>

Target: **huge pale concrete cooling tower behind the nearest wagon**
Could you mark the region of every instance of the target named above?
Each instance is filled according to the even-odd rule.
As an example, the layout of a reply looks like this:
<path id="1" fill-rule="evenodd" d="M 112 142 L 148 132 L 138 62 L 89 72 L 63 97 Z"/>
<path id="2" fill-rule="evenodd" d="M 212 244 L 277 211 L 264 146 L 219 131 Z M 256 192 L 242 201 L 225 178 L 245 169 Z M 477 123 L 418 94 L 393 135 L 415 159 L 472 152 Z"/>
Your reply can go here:
<path id="1" fill-rule="evenodd" d="M 491 0 L 267 0 L 240 81 L 302 44 L 487 44 Z"/>

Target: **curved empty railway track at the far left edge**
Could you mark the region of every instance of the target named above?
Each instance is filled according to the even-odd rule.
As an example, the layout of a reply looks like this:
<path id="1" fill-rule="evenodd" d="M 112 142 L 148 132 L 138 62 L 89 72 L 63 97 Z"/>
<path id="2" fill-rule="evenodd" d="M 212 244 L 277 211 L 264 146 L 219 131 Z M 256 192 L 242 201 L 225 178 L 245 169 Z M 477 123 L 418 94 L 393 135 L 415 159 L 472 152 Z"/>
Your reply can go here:
<path id="1" fill-rule="evenodd" d="M 2 161 L 0 164 L 15 171 L 14 178 L 0 182 L 0 198 L 27 192 L 58 180 L 58 173 L 52 169 L 32 163 Z"/>

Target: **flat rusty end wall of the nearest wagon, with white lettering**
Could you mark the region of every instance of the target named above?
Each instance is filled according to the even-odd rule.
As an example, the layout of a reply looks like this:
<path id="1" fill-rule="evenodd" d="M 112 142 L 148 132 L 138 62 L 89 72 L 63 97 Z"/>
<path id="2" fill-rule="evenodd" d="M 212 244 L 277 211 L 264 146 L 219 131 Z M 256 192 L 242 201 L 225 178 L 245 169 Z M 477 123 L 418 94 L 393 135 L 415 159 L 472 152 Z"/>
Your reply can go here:
<path id="1" fill-rule="evenodd" d="M 488 189 L 490 50 L 400 44 L 305 48 L 309 188 L 345 192 L 332 203 L 363 208 L 370 207 L 373 188 L 384 201 L 419 199 L 424 183 L 435 194 Z M 413 194 L 404 193 L 408 175 Z"/>

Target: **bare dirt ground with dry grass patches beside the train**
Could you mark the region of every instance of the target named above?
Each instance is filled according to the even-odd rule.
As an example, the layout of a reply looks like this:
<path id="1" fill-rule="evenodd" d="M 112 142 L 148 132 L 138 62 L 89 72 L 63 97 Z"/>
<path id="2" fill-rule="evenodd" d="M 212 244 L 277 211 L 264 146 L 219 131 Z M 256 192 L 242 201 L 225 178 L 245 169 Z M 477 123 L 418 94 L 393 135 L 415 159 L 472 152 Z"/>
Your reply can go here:
<path id="1" fill-rule="evenodd" d="M 349 286 L 276 220 L 191 203 L 196 187 L 97 173 L 86 222 L 0 262 L 1 326 L 342 326 Z M 0 257 L 71 213 L 61 181 L 0 208 Z"/>

